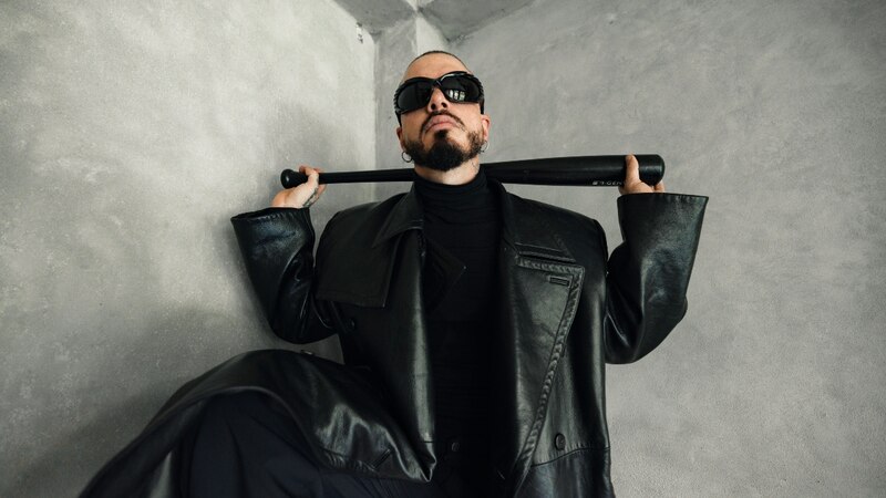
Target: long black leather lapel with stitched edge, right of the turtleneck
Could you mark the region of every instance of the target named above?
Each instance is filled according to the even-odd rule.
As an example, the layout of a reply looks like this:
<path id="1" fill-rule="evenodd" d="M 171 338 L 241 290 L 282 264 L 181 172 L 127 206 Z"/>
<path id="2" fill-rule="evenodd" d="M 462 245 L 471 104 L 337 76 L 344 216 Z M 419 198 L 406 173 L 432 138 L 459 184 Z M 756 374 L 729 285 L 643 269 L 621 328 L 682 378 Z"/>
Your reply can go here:
<path id="1" fill-rule="evenodd" d="M 504 189 L 502 194 L 501 328 L 493 351 L 499 395 L 495 421 L 503 423 L 495 425 L 493 465 L 513 492 L 538 443 L 585 270 L 558 236 L 548 210 Z"/>

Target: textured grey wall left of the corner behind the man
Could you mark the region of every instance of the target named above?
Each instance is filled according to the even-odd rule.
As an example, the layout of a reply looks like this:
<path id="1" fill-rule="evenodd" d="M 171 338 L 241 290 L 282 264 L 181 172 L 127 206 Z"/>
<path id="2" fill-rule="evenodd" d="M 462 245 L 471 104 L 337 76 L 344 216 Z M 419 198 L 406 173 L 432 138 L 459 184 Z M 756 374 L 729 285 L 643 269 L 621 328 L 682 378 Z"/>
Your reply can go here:
<path id="1" fill-rule="evenodd" d="M 284 345 L 228 218 L 374 165 L 374 52 L 331 1 L 0 3 L 0 496 L 75 495 L 185 380 Z"/>

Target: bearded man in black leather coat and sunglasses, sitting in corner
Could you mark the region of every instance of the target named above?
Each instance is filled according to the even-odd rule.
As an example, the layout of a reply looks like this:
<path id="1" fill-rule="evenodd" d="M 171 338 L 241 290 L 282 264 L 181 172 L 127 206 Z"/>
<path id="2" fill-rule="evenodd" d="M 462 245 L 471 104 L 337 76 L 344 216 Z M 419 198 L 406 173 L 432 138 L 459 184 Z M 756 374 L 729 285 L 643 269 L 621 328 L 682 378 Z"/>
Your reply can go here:
<path id="1" fill-rule="evenodd" d="M 394 104 L 416 181 L 336 215 L 316 263 L 318 169 L 301 166 L 306 184 L 233 219 L 275 333 L 337 333 L 347 366 L 266 352 L 184 386 L 145 432 L 179 442 L 166 464 L 142 465 L 173 469 L 154 470 L 174 476 L 164 489 L 614 495 L 604 366 L 643 356 L 683 317 L 707 198 L 641 183 L 628 156 L 625 242 L 608 258 L 596 221 L 485 178 L 484 98 L 454 55 L 412 61 Z"/>

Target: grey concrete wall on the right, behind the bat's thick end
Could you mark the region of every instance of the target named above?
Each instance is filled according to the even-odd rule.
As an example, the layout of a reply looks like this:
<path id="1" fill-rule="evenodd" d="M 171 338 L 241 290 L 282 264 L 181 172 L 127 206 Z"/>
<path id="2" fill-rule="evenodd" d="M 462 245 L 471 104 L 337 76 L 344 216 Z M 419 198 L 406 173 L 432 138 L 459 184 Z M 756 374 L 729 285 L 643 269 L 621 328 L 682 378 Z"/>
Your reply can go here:
<path id="1" fill-rule="evenodd" d="M 622 497 L 886 494 L 886 3 L 538 0 L 452 49 L 485 160 L 661 154 L 711 197 L 689 314 L 608 369 Z M 513 188 L 599 218 L 617 193 Z"/>

